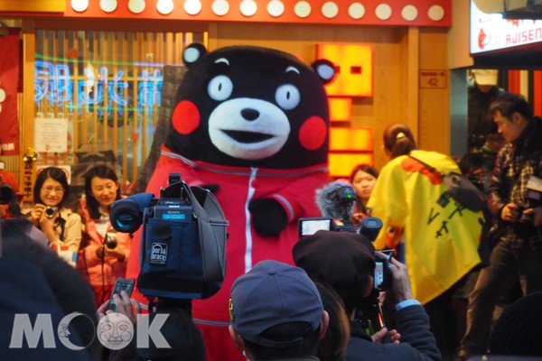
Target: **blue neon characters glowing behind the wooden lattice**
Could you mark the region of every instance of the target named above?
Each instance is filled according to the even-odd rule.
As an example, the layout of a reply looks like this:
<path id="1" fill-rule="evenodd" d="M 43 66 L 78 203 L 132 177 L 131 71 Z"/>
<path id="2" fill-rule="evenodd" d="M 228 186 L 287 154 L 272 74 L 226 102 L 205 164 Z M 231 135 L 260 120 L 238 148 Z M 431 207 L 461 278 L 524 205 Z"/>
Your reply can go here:
<path id="1" fill-rule="evenodd" d="M 98 116 L 133 112 L 134 104 L 137 104 L 137 114 L 143 115 L 145 111 L 152 112 L 154 107 L 162 105 L 164 76 L 162 69 L 152 69 L 152 65 L 163 66 L 142 64 L 131 79 L 126 76 L 125 69 L 117 69 L 110 74 L 106 66 L 98 68 L 96 72 L 94 67 L 87 66 L 84 74 L 75 79 L 71 70 L 73 63 L 36 60 L 34 101 L 38 108 L 45 101 L 49 106 L 68 106 L 70 112 L 78 109 L 79 115 L 83 109 L 96 110 Z M 133 64 L 129 69 L 134 69 Z M 133 87 L 136 87 L 136 91 Z"/>

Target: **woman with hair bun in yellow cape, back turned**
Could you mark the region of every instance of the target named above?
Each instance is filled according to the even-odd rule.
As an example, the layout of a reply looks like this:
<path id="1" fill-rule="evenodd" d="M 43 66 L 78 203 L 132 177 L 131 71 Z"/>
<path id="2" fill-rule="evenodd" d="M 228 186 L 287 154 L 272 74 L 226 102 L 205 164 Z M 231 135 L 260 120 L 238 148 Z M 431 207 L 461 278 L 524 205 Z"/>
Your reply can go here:
<path id="1" fill-rule="evenodd" d="M 389 125 L 383 142 L 389 162 L 368 203 L 371 216 L 384 223 L 375 248 L 400 250 L 413 296 L 429 315 L 443 357 L 451 357 L 458 346 L 452 295 L 480 264 L 483 215 L 453 199 L 438 174 L 461 172 L 451 157 L 417 149 L 414 134 L 403 124 Z"/>

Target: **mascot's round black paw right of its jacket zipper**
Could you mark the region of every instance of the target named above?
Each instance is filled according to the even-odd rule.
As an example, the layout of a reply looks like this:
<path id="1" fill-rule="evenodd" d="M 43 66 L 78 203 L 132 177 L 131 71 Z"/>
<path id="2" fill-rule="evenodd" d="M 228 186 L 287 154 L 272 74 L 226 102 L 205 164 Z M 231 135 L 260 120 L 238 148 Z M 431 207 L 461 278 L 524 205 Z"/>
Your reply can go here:
<path id="1" fill-rule="evenodd" d="M 252 225 L 261 236 L 278 236 L 288 225 L 284 208 L 275 199 L 254 199 L 248 205 Z"/>

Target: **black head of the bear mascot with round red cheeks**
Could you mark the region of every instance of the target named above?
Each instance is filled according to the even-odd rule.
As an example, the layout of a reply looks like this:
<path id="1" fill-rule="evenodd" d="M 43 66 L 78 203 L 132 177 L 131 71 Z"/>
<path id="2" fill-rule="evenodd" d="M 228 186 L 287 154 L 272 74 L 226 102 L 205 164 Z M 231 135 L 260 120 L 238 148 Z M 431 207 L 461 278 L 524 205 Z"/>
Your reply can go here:
<path id="1" fill-rule="evenodd" d="M 182 56 L 188 71 L 165 145 L 193 161 L 295 169 L 327 163 L 328 60 L 309 67 L 283 51 L 231 46 Z"/>

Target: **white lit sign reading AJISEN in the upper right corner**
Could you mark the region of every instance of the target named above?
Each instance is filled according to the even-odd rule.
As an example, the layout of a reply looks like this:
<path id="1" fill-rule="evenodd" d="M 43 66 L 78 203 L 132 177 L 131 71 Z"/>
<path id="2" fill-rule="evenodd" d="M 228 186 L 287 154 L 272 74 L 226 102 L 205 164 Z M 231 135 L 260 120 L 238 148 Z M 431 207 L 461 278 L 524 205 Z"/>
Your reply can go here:
<path id="1" fill-rule="evenodd" d="M 471 54 L 542 42 L 542 21 L 485 14 L 471 1 Z"/>

